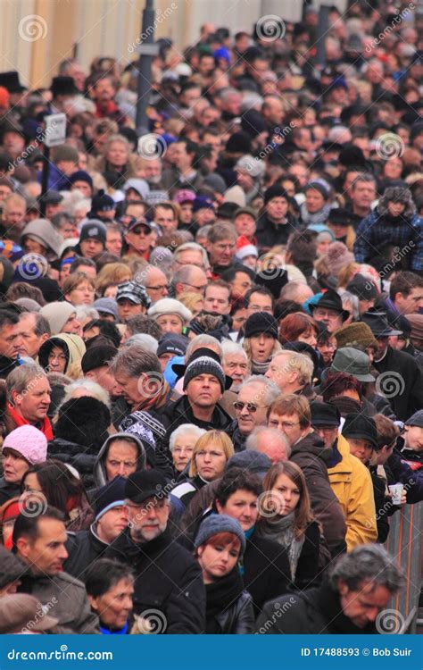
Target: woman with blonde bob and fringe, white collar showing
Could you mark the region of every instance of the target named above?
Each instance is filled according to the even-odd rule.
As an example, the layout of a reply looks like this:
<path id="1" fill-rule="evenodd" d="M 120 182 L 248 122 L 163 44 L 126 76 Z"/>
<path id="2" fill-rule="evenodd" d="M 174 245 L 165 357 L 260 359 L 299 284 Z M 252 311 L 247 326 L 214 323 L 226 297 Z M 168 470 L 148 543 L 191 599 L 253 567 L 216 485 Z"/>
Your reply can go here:
<path id="1" fill-rule="evenodd" d="M 178 484 L 172 495 L 188 507 L 198 490 L 222 476 L 228 459 L 234 454 L 234 445 L 226 432 L 207 431 L 195 442 L 189 465 L 190 479 Z"/>

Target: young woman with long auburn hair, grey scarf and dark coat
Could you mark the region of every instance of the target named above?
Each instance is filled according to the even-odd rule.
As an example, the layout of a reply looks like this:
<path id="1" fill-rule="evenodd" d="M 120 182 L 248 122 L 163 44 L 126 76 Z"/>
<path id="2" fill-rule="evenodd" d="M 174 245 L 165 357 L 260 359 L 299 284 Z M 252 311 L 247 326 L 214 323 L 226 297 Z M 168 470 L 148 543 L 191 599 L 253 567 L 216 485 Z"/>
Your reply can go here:
<path id="1" fill-rule="evenodd" d="M 303 471 L 291 461 L 272 465 L 263 490 L 257 534 L 286 549 L 292 583 L 306 589 L 319 577 L 320 529 L 311 514 Z"/>

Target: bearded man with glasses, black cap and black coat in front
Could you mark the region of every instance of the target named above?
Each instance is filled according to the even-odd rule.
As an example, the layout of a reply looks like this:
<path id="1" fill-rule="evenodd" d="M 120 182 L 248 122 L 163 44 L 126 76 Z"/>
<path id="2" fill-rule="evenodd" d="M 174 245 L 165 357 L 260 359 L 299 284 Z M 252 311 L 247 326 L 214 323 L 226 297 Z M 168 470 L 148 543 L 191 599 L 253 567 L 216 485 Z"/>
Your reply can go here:
<path id="1" fill-rule="evenodd" d="M 200 566 L 168 530 L 170 485 L 156 470 L 131 474 L 125 485 L 129 526 L 106 550 L 136 573 L 134 612 L 160 619 L 155 632 L 201 633 L 205 592 Z"/>

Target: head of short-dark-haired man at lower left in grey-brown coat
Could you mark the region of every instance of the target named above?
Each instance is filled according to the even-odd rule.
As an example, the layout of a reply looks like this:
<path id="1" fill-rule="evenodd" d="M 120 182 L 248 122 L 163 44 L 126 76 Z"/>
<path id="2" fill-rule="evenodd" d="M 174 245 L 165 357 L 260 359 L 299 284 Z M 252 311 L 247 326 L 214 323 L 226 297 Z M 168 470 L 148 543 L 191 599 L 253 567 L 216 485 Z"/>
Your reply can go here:
<path id="1" fill-rule="evenodd" d="M 23 509 L 15 521 L 13 550 L 30 565 L 33 574 L 60 574 L 68 557 L 67 540 L 64 515 L 55 507 L 46 507 L 39 515 L 25 514 Z"/>

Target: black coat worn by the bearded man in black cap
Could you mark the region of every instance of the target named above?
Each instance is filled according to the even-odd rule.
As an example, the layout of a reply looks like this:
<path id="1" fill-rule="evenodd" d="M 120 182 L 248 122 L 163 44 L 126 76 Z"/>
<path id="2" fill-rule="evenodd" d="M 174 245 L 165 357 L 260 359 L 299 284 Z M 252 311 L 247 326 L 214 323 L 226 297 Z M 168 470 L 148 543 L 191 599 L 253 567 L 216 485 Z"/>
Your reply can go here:
<path id="1" fill-rule="evenodd" d="M 133 568 L 134 612 L 162 612 L 166 632 L 201 633 L 205 627 L 205 590 L 200 566 L 187 549 L 163 532 L 158 538 L 136 544 L 129 531 L 120 533 L 105 556 Z"/>

